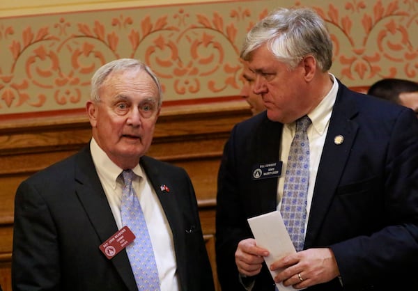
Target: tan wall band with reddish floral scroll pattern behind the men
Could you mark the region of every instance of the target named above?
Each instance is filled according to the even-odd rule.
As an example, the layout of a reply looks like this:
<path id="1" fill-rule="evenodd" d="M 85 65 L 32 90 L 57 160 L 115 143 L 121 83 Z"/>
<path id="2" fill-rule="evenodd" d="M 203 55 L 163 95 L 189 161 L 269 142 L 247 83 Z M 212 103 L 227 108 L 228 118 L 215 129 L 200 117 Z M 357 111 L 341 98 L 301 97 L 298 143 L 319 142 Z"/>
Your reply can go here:
<path id="1" fill-rule="evenodd" d="M 0 18 L 0 114 L 82 109 L 91 75 L 116 58 L 156 72 L 164 102 L 236 96 L 240 45 L 283 2 L 310 6 L 334 43 L 348 86 L 418 81 L 418 0 L 224 1 Z"/>

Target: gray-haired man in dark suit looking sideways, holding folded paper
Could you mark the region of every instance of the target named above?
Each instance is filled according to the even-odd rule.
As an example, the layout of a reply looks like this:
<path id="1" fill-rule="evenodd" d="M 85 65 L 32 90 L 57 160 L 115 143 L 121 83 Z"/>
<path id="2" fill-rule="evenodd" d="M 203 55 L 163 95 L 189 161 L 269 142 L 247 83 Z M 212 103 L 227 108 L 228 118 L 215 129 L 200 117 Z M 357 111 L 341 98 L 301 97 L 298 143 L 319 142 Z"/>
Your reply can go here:
<path id="1" fill-rule="evenodd" d="M 269 291 L 274 283 L 321 291 L 418 290 L 413 111 L 350 91 L 330 74 L 330 35 L 307 8 L 279 9 L 261 20 L 241 56 L 256 73 L 254 93 L 267 111 L 235 125 L 224 148 L 216 221 L 222 290 Z M 311 124 L 306 134 L 295 134 L 304 116 Z M 307 196 L 294 203 L 293 214 L 304 245 L 267 266 L 269 250 L 257 246 L 247 219 L 284 214 L 293 167 L 287 161 L 297 135 L 309 140 L 303 152 L 309 175 L 300 179 L 307 181 Z M 267 173 L 267 165 L 277 171 Z M 274 281 L 269 269 L 277 272 Z"/>

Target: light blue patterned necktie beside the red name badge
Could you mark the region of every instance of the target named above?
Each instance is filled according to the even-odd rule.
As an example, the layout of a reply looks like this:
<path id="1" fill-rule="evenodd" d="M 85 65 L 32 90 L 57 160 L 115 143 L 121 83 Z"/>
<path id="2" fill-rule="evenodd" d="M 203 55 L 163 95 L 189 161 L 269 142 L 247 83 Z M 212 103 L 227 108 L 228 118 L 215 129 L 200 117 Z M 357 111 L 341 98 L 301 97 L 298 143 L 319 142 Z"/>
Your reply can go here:
<path id="1" fill-rule="evenodd" d="M 148 234 L 144 212 L 132 187 L 135 174 L 132 170 L 124 170 L 122 174 L 124 182 L 121 202 L 122 223 L 130 228 L 136 237 L 134 242 L 126 247 L 132 272 L 137 281 L 138 290 L 159 291 L 160 279 L 153 245 Z"/>

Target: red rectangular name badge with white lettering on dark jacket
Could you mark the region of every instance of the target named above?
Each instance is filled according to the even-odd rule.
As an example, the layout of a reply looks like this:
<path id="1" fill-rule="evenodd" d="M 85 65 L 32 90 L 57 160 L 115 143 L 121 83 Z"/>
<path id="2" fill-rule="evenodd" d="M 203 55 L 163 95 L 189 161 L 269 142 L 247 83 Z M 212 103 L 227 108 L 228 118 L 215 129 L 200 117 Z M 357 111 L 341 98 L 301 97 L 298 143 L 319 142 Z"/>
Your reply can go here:
<path id="1" fill-rule="evenodd" d="M 120 251 L 133 242 L 135 239 L 134 233 L 127 227 L 123 226 L 118 232 L 109 237 L 103 244 L 100 244 L 99 249 L 106 255 L 109 260 L 117 255 Z"/>

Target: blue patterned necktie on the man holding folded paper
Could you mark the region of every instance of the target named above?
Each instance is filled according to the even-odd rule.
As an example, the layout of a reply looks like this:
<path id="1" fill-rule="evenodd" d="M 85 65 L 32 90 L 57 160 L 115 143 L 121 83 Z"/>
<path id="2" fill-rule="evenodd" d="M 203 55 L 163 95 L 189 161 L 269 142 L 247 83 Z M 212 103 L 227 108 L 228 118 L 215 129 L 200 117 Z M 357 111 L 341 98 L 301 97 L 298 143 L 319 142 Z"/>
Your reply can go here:
<path id="1" fill-rule="evenodd" d="M 311 125 L 308 116 L 296 120 L 296 133 L 289 150 L 284 191 L 281 200 L 281 216 L 291 236 L 296 251 L 304 246 L 304 226 L 307 219 L 307 194 L 309 186 L 309 140 L 307 129 Z"/>

